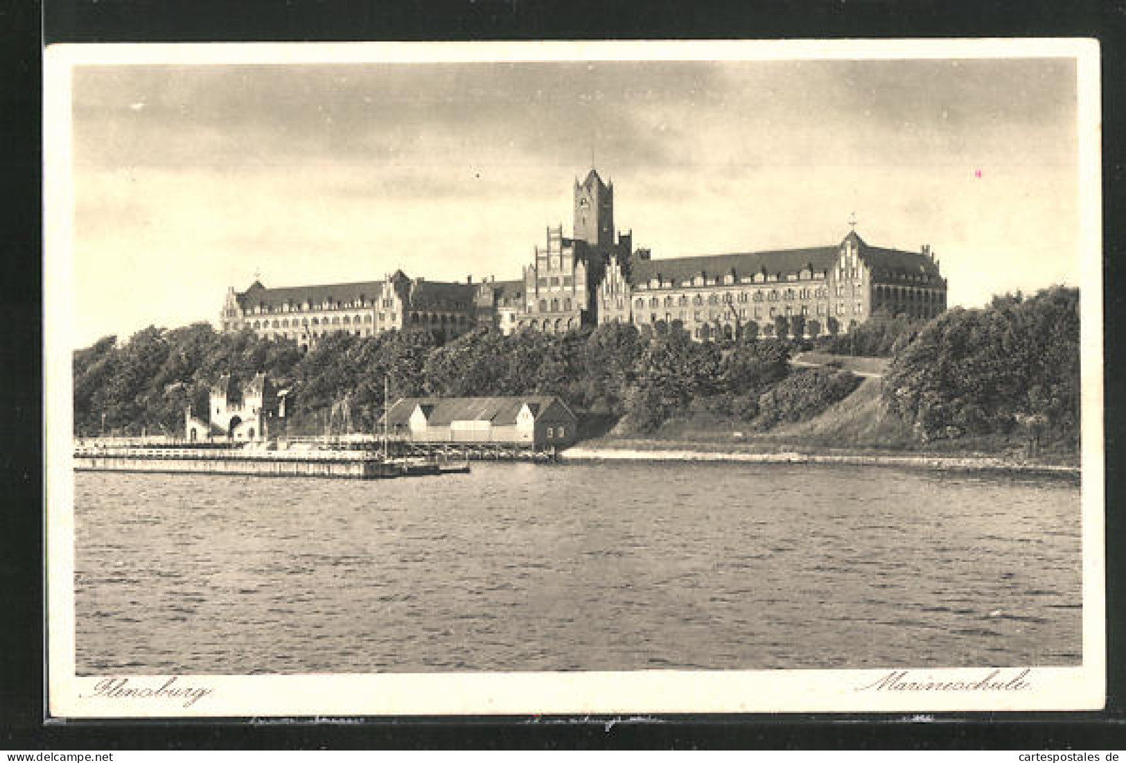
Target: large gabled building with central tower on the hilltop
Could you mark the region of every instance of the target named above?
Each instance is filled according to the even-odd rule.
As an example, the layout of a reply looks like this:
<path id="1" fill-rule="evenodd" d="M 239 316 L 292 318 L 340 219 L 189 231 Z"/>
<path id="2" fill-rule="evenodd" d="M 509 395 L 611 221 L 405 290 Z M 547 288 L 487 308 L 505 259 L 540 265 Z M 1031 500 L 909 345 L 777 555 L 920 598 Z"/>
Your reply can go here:
<path id="1" fill-rule="evenodd" d="M 428 329 L 444 338 L 479 325 L 506 334 L 565 332 L 610 322 L 677 325 L 695 339 L 848 331 L 874 313 L 931 317 L 946 309 L 946 280 L 929 246 L 873 246 L 855 230 L 807 249 L 652 258 L 614 227 L 614 183 L 593 169 L 574 182 L 573 235 L 546 228 L 524 278 L 474 285 L 408 278 L 267 289 L 229 289 L 221 325 L 307 348 L 329 333 L 368 336 Z M 855 224 L 854 224 L 855 225 Z M 778 318 L 785 318 L 779 321 Z"/>

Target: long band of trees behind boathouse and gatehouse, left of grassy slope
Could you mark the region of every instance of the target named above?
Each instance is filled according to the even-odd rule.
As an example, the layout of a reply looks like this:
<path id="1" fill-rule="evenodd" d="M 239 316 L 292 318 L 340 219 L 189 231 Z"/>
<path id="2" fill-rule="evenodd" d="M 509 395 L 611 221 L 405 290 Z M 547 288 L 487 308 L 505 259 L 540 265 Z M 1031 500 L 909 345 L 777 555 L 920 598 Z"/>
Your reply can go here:
<path id="1" fill-rule="evenodd" d="M 75 429 L 82 436 L 178 433 L 185 409 L 206 411 L 223 374 L 266 372 L 292 391 L 291 423 L 302 431 L 320 431 L 342 401 L 354 429 L 370 430 L 387 379 L 392 398 L 560 395 L 589 427 L 623 420 L 628 431 L 652 432 L 700 405 L 753 419 L 758 396 L 785 378 L 788 359 L 785 343 L 697 343 L 682 332 L 643 339 L 627 324 L 555 336 L 480 329 L 445 344 L 428 332 L 334 334 L 307 353 L 292 342 L 220 334 L 207 324 L 150 327 L 122 344 L 107 336 L 74 353 Z"/>

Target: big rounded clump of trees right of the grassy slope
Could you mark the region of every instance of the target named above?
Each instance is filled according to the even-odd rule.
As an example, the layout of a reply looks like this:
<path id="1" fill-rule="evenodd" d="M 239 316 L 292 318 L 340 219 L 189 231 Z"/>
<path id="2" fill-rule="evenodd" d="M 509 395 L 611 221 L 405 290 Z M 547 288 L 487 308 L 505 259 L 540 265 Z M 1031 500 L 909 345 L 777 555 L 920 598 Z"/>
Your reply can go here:
<path id="1" fill-rule="evenodd" d="M 995 297 L 930 321 L 892 361 L 884 397 L 919 438 L 1027 431 L 1074 449 L 1079 290 Z"/>

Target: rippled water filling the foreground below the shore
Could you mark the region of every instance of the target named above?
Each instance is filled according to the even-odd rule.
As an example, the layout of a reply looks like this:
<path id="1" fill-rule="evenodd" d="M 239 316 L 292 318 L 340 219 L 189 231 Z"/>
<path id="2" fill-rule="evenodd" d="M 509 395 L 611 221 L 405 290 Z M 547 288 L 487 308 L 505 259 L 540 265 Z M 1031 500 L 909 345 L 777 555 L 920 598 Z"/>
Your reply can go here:
<path id="1" fill-rule="evenodd" d="M 1080 662 L 1069 481 L 775 464 L 75 479 L 80 674 Z"/>

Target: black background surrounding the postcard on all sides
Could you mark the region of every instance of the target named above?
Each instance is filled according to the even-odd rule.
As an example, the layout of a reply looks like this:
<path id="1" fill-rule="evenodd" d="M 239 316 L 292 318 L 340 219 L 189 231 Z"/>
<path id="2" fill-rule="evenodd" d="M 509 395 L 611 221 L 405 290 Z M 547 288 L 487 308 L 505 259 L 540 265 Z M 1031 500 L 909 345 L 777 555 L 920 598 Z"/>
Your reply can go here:
<path id="1" fill-rule="evenodd" d="M 0 702 L 9 749 L 1126 748 L 1119 549 L 1123 32 L 1126 0 L 528 2 L 526 0 L 0 0 Z M 42 35 L 42 36 L 41 36 Z M 1108 709 L 1089 713 L 45 721 L 42 456 L 43 43 L 360 39 L 1097 37 L 1102 45 Z M 50 277 L 50 273 L 47 275 Z M 1090 298 L 1090 295 L 1084 297 Z"/>

